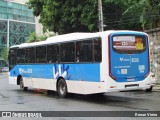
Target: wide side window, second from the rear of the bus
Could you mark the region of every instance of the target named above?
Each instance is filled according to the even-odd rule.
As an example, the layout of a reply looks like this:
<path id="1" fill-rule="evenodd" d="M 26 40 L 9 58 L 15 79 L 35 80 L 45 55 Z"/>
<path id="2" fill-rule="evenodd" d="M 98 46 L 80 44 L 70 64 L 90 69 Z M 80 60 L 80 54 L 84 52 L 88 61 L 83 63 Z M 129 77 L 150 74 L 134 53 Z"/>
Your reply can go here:
<path id="1" fill-rule="evenodd" d="M 76 61 L 92 62 L 93 61 L 92 40 L 76 42 Z"/>

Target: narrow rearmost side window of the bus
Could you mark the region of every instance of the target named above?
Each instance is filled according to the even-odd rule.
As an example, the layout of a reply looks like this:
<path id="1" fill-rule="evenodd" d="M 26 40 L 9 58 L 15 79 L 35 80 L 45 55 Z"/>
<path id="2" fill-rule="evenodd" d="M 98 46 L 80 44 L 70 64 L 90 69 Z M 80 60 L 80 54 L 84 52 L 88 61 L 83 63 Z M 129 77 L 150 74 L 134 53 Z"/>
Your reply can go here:
<path id="1" fill-rule="evenodd" d="M 94 50 L 93 50 L 93 54 L 94 54 L 94 61 L 95 62 L 101 62 L 102 60 L 102 45 L 101 45 L 101 39 L 97 38 L 94 39 Z"/>

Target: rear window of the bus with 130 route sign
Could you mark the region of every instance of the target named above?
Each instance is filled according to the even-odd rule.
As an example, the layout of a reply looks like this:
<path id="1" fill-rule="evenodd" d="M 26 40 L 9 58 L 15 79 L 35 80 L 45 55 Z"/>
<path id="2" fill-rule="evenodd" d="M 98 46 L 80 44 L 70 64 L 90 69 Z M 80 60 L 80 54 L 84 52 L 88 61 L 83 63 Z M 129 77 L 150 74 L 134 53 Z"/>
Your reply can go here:
<path id="1" fill-rule="evenodd" d="M 145 36 L 113 36 L 113 50 L 117 53 L 141 53 L 146 49 Z"/>

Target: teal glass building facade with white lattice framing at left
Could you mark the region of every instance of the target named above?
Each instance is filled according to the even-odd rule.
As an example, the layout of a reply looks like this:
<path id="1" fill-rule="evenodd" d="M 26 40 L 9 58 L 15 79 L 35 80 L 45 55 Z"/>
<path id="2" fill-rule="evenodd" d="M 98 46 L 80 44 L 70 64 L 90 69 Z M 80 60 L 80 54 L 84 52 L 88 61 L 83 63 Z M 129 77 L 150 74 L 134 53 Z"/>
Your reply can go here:
<path id="1" fill-rule="evenodd" d="M 0 65 L 4 48 L 24 43 L 35 32 L 35 17 L 24 4 L 26 1 L 0 0 Z"/>

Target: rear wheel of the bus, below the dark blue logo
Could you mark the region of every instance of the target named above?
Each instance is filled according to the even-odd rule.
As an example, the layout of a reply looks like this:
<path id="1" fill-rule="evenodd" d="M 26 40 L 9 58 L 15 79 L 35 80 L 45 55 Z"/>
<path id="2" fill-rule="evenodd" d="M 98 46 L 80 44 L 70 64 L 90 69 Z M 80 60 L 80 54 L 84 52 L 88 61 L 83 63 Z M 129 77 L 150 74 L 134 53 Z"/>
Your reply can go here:
<path id="1" fill-rule="evenodd" d="M 60 97 L 67 97 L 67 84 L 65 80 L 62 78 L 58 81 L 57 92 Z"/>

